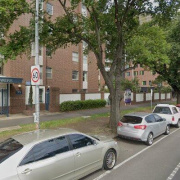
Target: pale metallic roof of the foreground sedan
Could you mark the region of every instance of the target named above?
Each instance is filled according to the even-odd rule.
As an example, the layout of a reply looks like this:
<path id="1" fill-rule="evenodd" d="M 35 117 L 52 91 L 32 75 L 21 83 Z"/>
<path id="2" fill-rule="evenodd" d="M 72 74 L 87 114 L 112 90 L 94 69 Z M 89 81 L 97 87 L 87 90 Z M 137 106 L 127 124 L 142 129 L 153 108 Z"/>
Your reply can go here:
<path id="1" fill-rule="evenodd" d="M 55 138 L 61 135 L 79 133 L 73 129 L 60 128 L 60 129 L 40 129 L 36 131 L 31 131 L 19 135 L 15 135 L 12 138 L 20 142 L 22 145 L 27 145 L 30 143 L 41 142 L 50 138 Z"/>

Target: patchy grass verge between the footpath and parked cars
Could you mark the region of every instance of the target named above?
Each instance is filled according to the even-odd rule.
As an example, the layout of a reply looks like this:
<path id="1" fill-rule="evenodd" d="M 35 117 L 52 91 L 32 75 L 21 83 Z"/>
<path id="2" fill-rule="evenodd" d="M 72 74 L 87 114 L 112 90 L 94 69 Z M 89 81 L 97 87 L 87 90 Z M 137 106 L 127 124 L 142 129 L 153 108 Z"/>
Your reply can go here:
<path id="1" fill-rule="evenodd" d="M 128 110 L 122 110 L 121 116 L 132 112 L 151 112 L 150 107 L 140 107 Z M 108 128 L 109 113 L 95 114 L 89 117 L 77 117 L 69 119 L 61 119 L 54 121 L 46 121 L 40 123 L 41 129 L 56 129 L 56 128 L 72 128 L 84 133 L 92 134 L 111 134 Z M 19 129 L 0 132 L 0 141 L 7 139 L 13 135 L 21 134 L 35 130 L 34 124 L 20 125 Z"/>

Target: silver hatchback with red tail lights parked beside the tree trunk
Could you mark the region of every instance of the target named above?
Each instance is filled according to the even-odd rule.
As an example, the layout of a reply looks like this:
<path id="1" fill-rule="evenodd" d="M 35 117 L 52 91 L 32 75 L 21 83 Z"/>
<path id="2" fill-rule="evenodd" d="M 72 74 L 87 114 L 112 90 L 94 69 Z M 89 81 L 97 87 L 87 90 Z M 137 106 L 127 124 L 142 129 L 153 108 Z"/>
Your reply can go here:
<path id="1" fill-rule="evenodd" d="M 119 121 L 117 133 L 120 137 L 153 144 L 153 139 L 161 134 L 169 134 L 170 127 L 166 119 L 157 114 L 133 113 L 123 116 Z"/>

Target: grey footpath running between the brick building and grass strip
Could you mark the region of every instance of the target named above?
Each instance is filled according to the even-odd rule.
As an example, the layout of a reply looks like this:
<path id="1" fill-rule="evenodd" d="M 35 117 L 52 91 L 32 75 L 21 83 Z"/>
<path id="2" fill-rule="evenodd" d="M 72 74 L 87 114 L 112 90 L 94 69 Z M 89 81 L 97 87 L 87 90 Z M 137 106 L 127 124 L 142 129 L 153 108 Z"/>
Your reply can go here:
<path id="1" fill-rule="evenodd" d="M 171 102 L 163 102 L 163 103 L 172 103 Z M 153 103 L 153 105 L 156 105 Z M 121 110 L 125 109 L 133 109 L 138 107 L 147 107 L 150 106 L 150 103 L 145 104 L 136 104 L 136 105 L 127 105 L 122 106 Z M 71 112 L 59 112 L 59 113 L 50 113 L 50 112 L 40 112 L 40 121 L 51 121 L 51 120 L 59 120 L 66 118 L 75 118 L 82 116 L 91 116 L 94 114 L 102 114 L 109 112 L 109 107 L 97 108 L 97 109 L 88 109 L 88 110 L 79 110 L 79 111 L 71 111 Z M 19 125 L 23 124 L 32 124 L 34 122 L 33 116 L 25 116 L 23 114 L 11 115 L 10 117 L 0 116 L 0 131 L 16 129 Z"/>

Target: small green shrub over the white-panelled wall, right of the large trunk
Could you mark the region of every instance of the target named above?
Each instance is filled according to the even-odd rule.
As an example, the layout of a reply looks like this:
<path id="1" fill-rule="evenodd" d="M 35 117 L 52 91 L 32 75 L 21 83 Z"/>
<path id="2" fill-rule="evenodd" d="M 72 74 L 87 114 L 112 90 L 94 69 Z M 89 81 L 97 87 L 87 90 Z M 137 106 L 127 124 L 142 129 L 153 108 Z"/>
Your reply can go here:
<path id="1" fill-rule="evenodd" d="M 132 79 L 130 81 L 128 79 L 124 79 L 121 82 L 121 88 L 123 91 L 125 91 L 126 89 L 130 89 L 132 92 L 139 92 L 140 91 L 139 80 L 137 78 Z"/>

